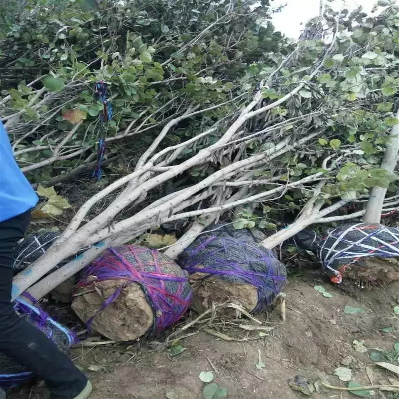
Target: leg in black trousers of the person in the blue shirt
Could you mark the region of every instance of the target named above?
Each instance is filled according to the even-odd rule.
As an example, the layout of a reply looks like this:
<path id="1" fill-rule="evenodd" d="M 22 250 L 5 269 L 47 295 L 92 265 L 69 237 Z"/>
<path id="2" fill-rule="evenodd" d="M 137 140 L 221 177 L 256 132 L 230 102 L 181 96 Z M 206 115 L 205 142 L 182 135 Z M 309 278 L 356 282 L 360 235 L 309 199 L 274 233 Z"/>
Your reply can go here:
<path id="1" fill-rule="evenodd" d="M 14 251 L 28 223 L 29 214 L 0 223 L 0 349 L 42 378 L 50 398 L 71 399 L 85 389 L 87 378 L 45 334 L 18 317 L 11 303 Z"/>

